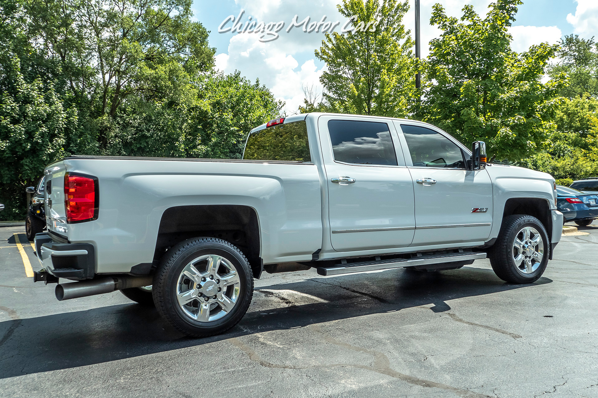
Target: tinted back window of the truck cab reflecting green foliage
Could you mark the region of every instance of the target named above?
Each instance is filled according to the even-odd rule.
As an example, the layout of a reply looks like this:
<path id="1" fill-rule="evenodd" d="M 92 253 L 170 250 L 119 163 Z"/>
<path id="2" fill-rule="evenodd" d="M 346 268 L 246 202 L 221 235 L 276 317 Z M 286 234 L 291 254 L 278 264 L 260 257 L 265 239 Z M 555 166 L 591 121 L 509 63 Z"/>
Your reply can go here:
<path id="1" fill-rule="evenodd" d="M 281 124 L 249 134 L 243 159 L 311 162 L 306 122 Z"/>

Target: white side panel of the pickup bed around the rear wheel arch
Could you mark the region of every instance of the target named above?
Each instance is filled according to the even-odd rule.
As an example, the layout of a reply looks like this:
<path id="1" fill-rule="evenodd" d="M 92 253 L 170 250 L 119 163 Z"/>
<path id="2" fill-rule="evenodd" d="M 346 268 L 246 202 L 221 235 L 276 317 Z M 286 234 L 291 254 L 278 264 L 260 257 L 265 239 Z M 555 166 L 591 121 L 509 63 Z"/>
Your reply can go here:
<path id="1" fill-rule="evenodd" d="M 67 159 L 99 178 L 98 219 L 69 224 L 72 242 L 97 248 L 98 273 L 151 263 L 162 214 L 172 206 L 246 205 L 258 214 L 264 263 L 311 260 L 321 248 L 318 169 L 302 163 L 174 159 Z"/>

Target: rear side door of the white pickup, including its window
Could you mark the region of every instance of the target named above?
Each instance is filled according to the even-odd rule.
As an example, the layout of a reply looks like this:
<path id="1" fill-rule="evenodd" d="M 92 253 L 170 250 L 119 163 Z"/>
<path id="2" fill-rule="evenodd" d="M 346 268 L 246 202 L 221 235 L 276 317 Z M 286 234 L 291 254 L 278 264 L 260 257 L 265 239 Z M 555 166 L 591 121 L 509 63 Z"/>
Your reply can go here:
<path id="1" fill-rule="evenodd" d="M 413 240 L 413 181 L 388 119 L 318 119 L 335 251 L 395 248 Z"/>

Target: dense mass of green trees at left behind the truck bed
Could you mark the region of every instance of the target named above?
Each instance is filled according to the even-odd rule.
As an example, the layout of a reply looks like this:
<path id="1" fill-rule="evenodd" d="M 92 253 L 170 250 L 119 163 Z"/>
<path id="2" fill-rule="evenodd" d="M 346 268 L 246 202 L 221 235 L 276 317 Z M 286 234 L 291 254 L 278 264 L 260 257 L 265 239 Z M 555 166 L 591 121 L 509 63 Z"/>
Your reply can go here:
<path id="1" fill-rule="evenodd" d="M 91 155 L 239 158 L 282 104 L 212 72 L 191 0 L 0 0 L 0 202 L 23 219 L 48 163 Z"/>

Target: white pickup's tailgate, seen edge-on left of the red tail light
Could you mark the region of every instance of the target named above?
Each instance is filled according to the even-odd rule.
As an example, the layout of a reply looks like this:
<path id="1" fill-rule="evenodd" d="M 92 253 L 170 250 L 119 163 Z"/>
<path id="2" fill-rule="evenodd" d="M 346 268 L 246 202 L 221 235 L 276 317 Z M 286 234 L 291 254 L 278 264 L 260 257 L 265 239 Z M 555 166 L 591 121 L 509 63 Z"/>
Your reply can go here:
<path id="1" fill-rule="evenodd" d="M 63 162 L 53 163 L 44 171 L 46 175 L 45 222 L 48 231 L 60 235 L 68 233 L 65 208 L 65 172 L 66 167 Z"/>

